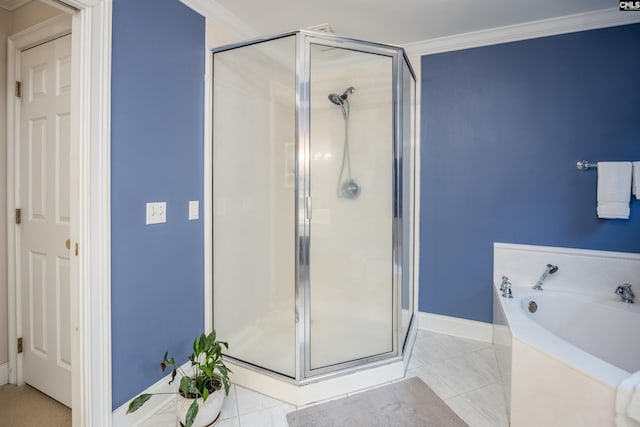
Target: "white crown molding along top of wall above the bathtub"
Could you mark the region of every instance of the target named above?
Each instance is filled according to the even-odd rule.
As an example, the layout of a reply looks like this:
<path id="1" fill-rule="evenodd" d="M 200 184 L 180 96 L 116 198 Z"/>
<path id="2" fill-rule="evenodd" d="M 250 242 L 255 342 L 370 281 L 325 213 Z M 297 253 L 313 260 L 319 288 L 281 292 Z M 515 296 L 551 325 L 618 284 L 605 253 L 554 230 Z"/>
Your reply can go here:
<path id="1" fill-rule="evenodd" d="M 615 7 L 407 43 L 404 48 L 409 55 L 429 55 L 637 22 L 640 13 Z"/>

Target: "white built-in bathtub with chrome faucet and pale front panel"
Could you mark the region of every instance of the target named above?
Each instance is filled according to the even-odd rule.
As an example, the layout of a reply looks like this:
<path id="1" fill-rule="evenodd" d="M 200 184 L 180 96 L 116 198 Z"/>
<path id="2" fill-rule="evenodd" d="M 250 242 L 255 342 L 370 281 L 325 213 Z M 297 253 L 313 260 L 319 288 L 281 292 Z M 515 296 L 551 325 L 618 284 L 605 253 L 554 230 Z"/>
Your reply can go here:
<path id="1" fill-rule="evenodd" d="M 531 289 L 546 263 L 559 266 Z M 501 277 L 512 283 L 503 298 Z M 614 426 L 618 384 L 640 370 L 640 255 L 494 245 L 494 343 L 511 426 Z M 529 306 L 535 302 L 537 310 Z"/>

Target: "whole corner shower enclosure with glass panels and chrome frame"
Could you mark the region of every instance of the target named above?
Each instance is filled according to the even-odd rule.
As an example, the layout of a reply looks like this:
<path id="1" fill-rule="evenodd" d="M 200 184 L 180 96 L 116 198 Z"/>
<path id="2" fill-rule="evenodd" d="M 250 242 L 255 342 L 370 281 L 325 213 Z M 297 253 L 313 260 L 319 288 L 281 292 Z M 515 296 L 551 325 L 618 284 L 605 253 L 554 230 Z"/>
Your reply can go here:
<path id="1" fill-rule="evenodd" d="M 234 380 L 402 365 L 414 103 L 398 47 L 297 31 L 213 51 L 213 327 Z"/>

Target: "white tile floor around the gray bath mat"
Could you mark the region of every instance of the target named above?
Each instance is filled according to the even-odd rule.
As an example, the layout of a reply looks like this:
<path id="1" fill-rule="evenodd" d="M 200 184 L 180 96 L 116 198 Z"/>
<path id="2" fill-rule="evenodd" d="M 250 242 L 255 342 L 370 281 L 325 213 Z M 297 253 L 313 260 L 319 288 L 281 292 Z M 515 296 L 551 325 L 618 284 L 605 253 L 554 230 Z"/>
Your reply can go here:
<path id="1" fill-rule="evenodd" d="M 491 344 L 419 331 L 407 370 L 407 377 L 413 376 L 422 379 L 471 427 L 509 425 Z M 286 427 L 286 414 L 296 409 L 233 385 L 216 427 Z M 144 424 L 148 427 L 175 425 L 172 402 Z"/>

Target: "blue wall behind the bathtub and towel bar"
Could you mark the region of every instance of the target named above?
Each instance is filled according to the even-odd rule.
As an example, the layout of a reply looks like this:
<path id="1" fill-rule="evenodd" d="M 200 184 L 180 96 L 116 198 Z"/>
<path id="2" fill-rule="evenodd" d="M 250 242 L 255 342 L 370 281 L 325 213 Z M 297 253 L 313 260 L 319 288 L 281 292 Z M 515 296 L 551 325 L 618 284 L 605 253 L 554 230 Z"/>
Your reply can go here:
<path id="1" fill-rule="evenodd" d="M 640 252 L 640 202 L 598 219 L 597 172 L 575 166 L 640 160 L 639 41 L 635 24 L 422 57 L 420 311 L 491 322 L 493 242 Z"/>

